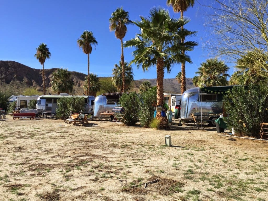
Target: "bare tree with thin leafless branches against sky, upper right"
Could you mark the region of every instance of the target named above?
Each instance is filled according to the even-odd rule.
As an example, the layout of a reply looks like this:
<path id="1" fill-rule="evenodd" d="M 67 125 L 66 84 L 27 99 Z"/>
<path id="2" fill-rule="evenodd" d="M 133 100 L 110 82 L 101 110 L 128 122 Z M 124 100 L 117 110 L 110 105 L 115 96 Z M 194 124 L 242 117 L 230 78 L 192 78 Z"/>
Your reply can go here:
<path id="1" fill-rule="evenodd" d="M 205 48 L 234 62 L 246 52 L 268 50 L 267 0 L 215 0 L 207 6 L 210 39 Z"/>

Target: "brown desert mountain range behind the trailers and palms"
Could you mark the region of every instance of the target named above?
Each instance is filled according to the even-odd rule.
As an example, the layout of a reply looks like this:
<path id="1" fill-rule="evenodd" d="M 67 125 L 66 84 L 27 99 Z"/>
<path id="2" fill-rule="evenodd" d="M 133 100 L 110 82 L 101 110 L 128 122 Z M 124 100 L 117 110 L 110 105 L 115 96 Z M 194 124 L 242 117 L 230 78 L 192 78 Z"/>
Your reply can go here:
<path id="1" fill-rule="evenodd" d="M 57 68 L 44 69 L 47 93 L 54 94 L 51 90 L 52 73 Z M 72 71 L 72 79 L 75 82 L 73 95 L 82 95 L 84 85 L 84 73 Z M 101 79 L 101 77 L 100 77 Z M 156 86 L 156 79 L 135 80 L 131 91 L 138 91 L 143 81 L 150 81 L 151 86 Z M 26 88 L 33 87 L 42 93 L 43 91 L 42 69 L 34 69 L 16 61 L 0 61 L 0 86 L 1 91 L 10 90 L 14 94 L 23 94 Z M 186 79 L 186 88 L 194 87 L 192 79 Z M 180 84 L 176 79 L 164 79 L 164 92 L 180 94 Z"/>

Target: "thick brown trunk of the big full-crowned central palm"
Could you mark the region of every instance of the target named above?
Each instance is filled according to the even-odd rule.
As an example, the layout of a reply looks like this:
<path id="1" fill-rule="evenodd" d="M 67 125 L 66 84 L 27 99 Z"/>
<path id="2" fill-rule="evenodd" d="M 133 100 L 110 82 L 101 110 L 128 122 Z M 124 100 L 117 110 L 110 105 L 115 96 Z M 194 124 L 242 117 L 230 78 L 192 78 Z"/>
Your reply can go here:
<path id="1" fill-rule="evenodd" d="M 159 58 L 157 59 L 157 64 L 156 64 L 156 72 L 157 72 L 157 105 L 163 106 L 164 102 L 164 61 L 163 59 Z M 167 118 L 163 118 L 161 116 L 161 112 L 157 112 L 156 118 L 160 120 L 160 129 L 166 128 L 168 126 L 168 121 L 165 121 Z"/>

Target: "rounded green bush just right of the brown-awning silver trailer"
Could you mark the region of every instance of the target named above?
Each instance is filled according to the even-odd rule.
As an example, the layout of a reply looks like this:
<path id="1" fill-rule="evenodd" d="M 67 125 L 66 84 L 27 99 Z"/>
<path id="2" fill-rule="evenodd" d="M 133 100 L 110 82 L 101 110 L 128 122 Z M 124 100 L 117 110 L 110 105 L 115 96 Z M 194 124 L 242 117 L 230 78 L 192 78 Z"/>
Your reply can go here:
<path id="1" fill-rule="evenodd" d="M 139 109 L 140 99 L 136 92 L 130 92 L 128 95 L 123 94 L 120 97 L 119 105 L 125 109 L 125 124 L 135 125 L 139 121 L 138 109 Z"/>

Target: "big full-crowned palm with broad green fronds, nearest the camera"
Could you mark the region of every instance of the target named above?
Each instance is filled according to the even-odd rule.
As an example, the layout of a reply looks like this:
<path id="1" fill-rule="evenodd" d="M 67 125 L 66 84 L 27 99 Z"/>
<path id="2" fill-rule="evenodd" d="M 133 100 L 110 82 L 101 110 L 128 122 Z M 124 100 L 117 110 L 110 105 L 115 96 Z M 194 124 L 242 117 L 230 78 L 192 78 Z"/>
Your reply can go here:
<path id="1" fill-rule="evenodd" d="M 150 10 L 149 18 L 141 16 L 141 21 L 135 21 L 140 28 L 140 34 L 135 38 L 124 43 L 125 47 L 134 46 L 134 59 L 130 62 L 142 67 L 147 71 L 150 67 L 156 65 L 157 71 L 157 105 L 163 105 L 163 79 L 164 69 L 170 73 L 171 67 L 175 63 L 182 61 L 192 62 L 188 55 L 182 55 L 182 50 L 193 50 L 196 42 L 188 41 L 181 43 L 182 36 L 195 35 L 195 32 L 180 27 L 188 23 L 187 19 L 173 19 L 167 10 L 162 8 L 153 8 Z M 157 119 L 162 121 L 161 113 L 157 112 Z M 163 124 L 162 124 L 163 125 Z M 167 125 L 167 122 L 166 122 Z"/>

